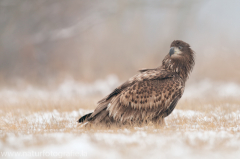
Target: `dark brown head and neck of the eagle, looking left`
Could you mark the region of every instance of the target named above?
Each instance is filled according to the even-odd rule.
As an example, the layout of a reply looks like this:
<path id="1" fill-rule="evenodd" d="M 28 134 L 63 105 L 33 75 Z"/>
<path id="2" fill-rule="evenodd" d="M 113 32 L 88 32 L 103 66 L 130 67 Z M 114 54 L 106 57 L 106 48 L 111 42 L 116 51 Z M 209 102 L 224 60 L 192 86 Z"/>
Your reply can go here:
<path id="1" fill-rule="evenodd" d="M 174 40 L 170 45 L 169 54 L 163 60 L 162 67 L 177 72 L 187 79 L 194 66 L 194 51 L 182 40 Z"/>

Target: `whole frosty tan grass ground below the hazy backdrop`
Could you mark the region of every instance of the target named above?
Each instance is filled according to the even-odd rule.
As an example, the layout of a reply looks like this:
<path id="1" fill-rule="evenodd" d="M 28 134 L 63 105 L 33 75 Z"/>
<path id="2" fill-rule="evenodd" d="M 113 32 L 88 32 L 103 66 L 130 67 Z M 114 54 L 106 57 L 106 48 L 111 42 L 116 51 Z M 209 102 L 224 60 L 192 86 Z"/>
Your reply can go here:
<path id="1" fill-rule="evenodd" d="M 166 125 L 85 129 L 77 119 L 118 84 L 67 80 L 56 89 L 0 90 L 4 158 L 239 158 L 240 86 L 189 85 Z M 214 97 L 214 100 L 211 100 Z M 209 99 L 211 98 L 211 99 Z"/>

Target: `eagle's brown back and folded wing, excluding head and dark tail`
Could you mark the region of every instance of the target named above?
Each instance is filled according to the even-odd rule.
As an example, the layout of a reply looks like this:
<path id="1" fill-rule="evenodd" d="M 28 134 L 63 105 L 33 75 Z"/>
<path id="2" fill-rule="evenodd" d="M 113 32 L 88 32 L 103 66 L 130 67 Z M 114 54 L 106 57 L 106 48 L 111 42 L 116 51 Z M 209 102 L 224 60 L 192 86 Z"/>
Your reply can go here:
<path id="1" fill-rule="evenodd" d="M 181 96 L 183 81 L 173 72 L 149 69 L 133 76 L 98 102 L 88 120 L 131 122 L 153 119 L 167 110 L 175 96 Z"/>

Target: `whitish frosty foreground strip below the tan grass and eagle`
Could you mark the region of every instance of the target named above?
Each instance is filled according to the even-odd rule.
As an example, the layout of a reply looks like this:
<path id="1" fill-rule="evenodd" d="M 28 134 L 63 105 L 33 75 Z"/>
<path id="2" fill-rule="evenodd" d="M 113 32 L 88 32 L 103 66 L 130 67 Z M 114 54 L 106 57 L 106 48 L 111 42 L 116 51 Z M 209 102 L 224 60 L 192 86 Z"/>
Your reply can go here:
<path id="1" fill-rule="evenodd" d="M 6 152 L 34 152 L 37 156 L 55 158 L 239 158 L 239 135 L 227 132 L 95 133 L 75 135 L 51 133 L 44 135 L 9 135 L 12 142 Z M 29 141 L 47 140 L 46 145 L 26 148 Z M 15 143 L 15 144 L 13 144 Z M 17 145 L 19 146 L 15 146 Z M 21 145 L 21 146 L 20 146 Z M 228 146 L 223 146 L 228 145 Z M 25 147 L 23 147 L 25 146 Z M 220 149 L 220 150 L 216 150 Z M 20 156 L 20 155 L 19 155 Z M 34 155 L 32 155 L 34 157 Z M 12 157 L 19 158 L 19 157 Z M 23 155 L 23 158 L 32 158 Z"/>

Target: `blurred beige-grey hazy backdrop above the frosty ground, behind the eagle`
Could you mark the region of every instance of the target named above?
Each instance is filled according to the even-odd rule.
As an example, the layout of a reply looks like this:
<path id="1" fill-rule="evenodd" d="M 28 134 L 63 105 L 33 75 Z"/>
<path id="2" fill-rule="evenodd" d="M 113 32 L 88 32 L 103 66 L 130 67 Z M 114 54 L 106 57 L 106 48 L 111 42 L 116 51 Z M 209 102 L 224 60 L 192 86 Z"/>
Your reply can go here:
<path id="1" fill-rule="evenodd" d="M 240 82 L 240 1 L 1 0 L 0 86 L 125 81 L 173 40 L 196 52 L 189 83 Z"/>

